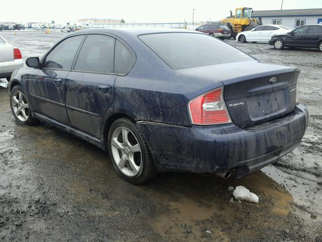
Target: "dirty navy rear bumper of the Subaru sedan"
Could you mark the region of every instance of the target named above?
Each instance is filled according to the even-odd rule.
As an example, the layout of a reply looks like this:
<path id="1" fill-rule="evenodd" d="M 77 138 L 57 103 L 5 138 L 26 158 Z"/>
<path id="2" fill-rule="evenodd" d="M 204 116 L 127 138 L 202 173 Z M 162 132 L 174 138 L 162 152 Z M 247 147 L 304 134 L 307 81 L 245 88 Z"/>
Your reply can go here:
<path id="1" fill-rule="evenodd" d="M 247 175 L 292 151 L 308 123 L 308 110 L 295 109 L 269 122 L 240 129 L 233 124 L 180 127 L 137 123 L 160 171 Z"/>

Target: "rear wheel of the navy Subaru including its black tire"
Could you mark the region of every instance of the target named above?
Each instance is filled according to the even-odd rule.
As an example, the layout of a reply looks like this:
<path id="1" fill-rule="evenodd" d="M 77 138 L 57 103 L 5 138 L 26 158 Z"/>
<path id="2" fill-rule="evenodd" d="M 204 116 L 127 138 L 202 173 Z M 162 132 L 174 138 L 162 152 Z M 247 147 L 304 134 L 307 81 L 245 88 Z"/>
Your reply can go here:
<path id="1" fill-rule="evenodd" d="M 114 168 L 129 183 L 141 184 L 157 174 L 147 144 L 130 118 L 112 124 L 107 145 Z"/>

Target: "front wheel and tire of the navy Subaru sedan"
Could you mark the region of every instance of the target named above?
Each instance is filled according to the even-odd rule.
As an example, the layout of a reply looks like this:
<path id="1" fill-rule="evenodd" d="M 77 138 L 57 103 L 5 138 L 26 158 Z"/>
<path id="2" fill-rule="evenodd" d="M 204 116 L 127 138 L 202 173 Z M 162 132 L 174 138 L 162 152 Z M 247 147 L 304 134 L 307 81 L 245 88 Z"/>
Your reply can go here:
<path id="1" fill-rule="evenodd" d="M 18 123 L 23 125 L 36 125 L 39 120 L 31 116 L 31 109 L 27 97 L 21 86 L 14 86 L 10 91 L 10 107 Z"/>

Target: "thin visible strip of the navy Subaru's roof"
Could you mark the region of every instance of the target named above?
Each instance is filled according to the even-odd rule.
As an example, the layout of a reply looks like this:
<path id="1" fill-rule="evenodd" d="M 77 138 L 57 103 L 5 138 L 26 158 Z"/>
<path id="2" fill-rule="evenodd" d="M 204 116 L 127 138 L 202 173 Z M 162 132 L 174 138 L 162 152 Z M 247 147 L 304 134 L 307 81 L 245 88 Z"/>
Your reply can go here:
<path id="1" fill-rule="evenodd" d="M 140 34 L 155 34 L 155 33 L 171 33 L 171 32 L 187 32 L 187 33 L 196 33 L 196 31 L 186 30 L 186 29 L 174 29 L 174 28 L 151 28 L 151 27 L 140 27 L 140 28 L 93 28 L 78 30 L 73 33 L 109 33 L 109 34 L 128 34 L 137 36 Z"/>

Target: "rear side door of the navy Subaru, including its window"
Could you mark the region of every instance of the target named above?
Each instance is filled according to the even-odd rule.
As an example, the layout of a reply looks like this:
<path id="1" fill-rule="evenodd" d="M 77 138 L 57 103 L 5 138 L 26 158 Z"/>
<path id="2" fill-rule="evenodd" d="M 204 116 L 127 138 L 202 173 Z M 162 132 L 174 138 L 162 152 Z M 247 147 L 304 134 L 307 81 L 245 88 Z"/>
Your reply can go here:
<path id="1" fill-rule="evenodd" d="M 89 34 L 65 82 L 71 126 L 98 139 L 102 118 L 114 99 L 115 78 L 123 75 L 117 70 L 122 68 L 116 57 L 120 46 L 124 44 L 112 36 Z"/>

